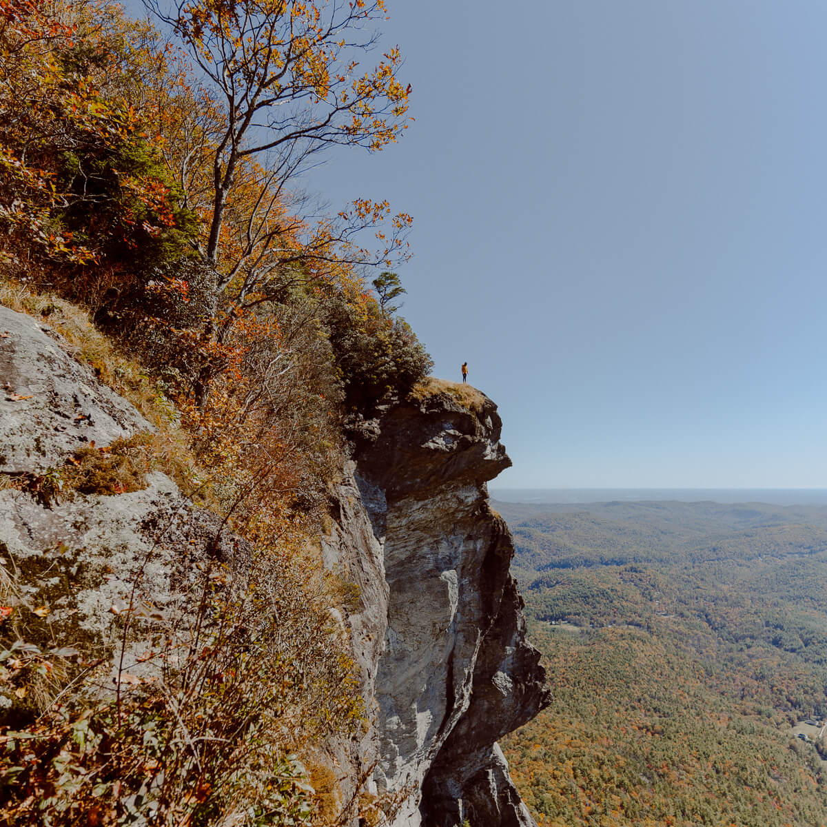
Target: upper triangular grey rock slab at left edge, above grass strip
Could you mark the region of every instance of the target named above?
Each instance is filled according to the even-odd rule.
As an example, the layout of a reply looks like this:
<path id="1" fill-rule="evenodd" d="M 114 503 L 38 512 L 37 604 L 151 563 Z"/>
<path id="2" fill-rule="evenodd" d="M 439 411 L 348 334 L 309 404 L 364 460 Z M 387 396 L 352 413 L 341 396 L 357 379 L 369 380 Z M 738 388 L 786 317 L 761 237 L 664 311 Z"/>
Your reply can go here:
<path id="1" fill-rule="evenodd" d="M 88 442 L 151 430 L 49 327 L 2 306 L 0 385 L 0 472 L 44 471 Z"/>

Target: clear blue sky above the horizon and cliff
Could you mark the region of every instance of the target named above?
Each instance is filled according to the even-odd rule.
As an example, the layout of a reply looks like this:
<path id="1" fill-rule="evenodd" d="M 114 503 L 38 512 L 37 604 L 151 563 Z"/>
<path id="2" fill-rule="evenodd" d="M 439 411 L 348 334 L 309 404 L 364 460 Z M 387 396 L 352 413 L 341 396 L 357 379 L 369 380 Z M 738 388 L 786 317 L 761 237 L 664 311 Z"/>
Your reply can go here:
<path id="1" fill-rule="evenodd" d="M 827 486 L 827 3 L 388 0 L 402 313 L 516 487 Z"/>

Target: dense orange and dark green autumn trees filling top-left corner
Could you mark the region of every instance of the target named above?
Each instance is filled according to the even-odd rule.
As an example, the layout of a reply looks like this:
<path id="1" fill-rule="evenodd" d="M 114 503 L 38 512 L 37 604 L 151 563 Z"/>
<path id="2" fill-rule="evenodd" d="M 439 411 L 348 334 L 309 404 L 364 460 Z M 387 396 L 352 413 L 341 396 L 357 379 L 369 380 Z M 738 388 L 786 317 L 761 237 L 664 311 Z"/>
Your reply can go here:
<path id="1" fill-rule="evenodd" d="M 0 0 L 0 260 L 7 265 L 24 257 L 122 271 L 128 262 L 134 274 L 147 261 L 179 258 L 195 229 L 163 159 L 117 93 L 136 26 L 102 11 L 96 0 Z M 75 294 L 84 281 L 76 276 L 65 273 Z"/>

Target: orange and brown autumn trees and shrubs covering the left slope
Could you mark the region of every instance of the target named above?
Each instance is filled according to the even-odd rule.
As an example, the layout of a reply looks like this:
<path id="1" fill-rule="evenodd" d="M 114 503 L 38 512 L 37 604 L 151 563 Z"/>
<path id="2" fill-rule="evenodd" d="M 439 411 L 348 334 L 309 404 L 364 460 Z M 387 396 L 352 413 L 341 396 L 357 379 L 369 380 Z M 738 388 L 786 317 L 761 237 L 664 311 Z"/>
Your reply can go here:
<path id="1" fill-rule="evenodd" d="M 390 304 L 411 218 L 361 196 L 327 214 L 300 180 L 329 146 L 402 135 L 401 55 L 371 54 L 383 0 L 146 9 L 0 0 L 0 300 L 155 428 L 0 485 L 48 505 L 165 471 L 249 576 L 205 559 L 194 609 L 113 606 L 164 680 L 118 673 L 112 695 L 112 641 L 56 645 L 61 595 L 32 602 L 5 554 L 0 823 L 373 823 L 382 802 L 334 806 L 315 752 L 362 710 L 329 613 L 356 598 L 311 541 L 347 417 L 431 362 Z"/>

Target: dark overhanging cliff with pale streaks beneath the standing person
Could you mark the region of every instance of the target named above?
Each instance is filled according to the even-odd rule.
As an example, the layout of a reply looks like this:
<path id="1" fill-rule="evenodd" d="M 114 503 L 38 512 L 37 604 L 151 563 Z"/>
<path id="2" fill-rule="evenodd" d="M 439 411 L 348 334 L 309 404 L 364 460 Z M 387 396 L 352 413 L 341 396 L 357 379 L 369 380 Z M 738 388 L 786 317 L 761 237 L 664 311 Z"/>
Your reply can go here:
<path id="1" fill-rule="evenodd" d="M 511 463 L 495 404 L 447 394 L 355 429 L 356 476 L 388 586 L 372 680 L 376 791 L 394 825 L 531 825 L 496 740 L 547 703 L 509 575 L 514 547 L 485 483 Z"/>

